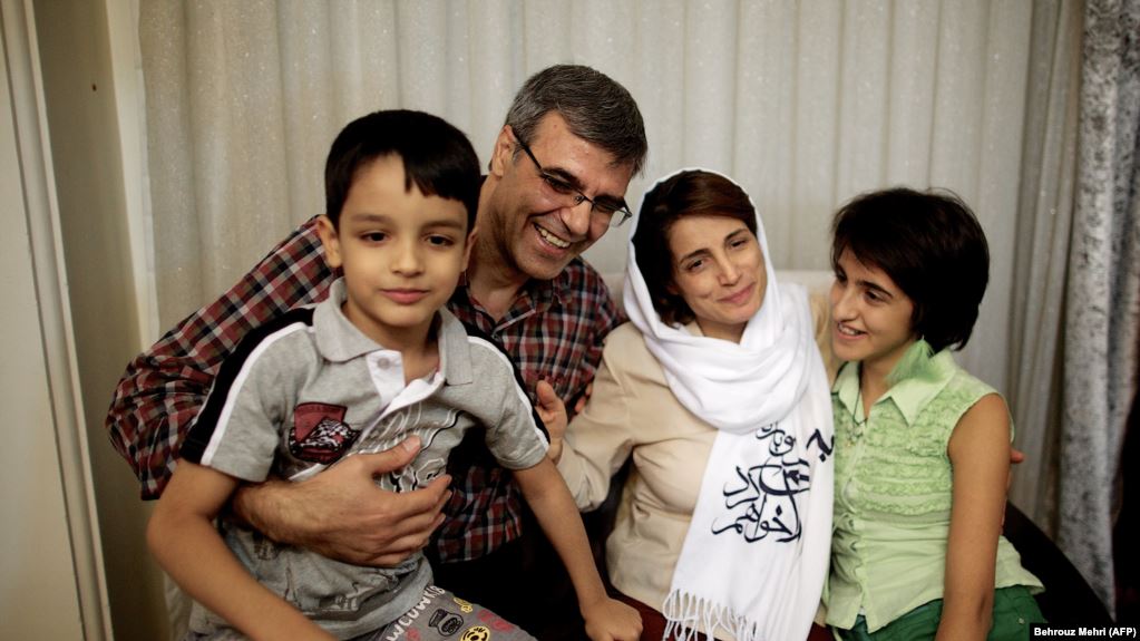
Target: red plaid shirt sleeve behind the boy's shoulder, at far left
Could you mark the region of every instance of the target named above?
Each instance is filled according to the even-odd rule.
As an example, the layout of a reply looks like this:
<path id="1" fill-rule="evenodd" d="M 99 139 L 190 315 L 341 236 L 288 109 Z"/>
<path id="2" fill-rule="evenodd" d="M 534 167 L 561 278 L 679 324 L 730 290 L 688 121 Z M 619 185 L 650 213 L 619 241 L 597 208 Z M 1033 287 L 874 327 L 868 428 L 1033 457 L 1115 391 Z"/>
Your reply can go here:
<path id="1" fill-rule="evenodd" d="M 293 307 L 325 298 L 335 275 L 325 265 L 316 220 L 128 365 L 105 424 L 139 478 L 142 498 L 162 494 L 218 367 L 242 336 Z"/>

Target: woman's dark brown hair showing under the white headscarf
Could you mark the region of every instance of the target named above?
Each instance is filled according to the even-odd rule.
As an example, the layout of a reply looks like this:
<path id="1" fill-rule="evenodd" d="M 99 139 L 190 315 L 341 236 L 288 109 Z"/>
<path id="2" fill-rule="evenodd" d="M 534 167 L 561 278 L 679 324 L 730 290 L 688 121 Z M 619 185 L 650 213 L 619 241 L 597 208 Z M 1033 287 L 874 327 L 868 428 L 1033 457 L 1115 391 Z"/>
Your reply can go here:
<path id="1" fill-rule="evenodd" d="M 693 310 L 681 294 L 673 293 L 674 255 L 669 230 L 689 216 L 735 218 L 756 235 L 756 209 L 748 194 L 727 178 L 708 171 L 689 170 L 658 182 L 642 201 L 633 243 L 637 268 L 645 278 L 653 309 L 666 325 L 693 320 Z"/>

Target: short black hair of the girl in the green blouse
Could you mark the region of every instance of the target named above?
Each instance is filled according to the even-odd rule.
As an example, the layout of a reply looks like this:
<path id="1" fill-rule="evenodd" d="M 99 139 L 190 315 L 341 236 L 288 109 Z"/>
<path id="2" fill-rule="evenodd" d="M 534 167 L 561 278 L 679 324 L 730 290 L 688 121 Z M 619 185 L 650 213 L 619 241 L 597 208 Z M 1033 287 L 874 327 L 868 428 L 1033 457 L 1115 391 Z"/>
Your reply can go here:
<path id="1" fill-rule="evenodd" d="M 903 187 L 863 194 L 836 213 L 831 236 L 832 269 L 850 250 L 911 299 L 911 327 L 936 352 L 966 346 L 990 282 L 990 249 L 961 198 Z"/>

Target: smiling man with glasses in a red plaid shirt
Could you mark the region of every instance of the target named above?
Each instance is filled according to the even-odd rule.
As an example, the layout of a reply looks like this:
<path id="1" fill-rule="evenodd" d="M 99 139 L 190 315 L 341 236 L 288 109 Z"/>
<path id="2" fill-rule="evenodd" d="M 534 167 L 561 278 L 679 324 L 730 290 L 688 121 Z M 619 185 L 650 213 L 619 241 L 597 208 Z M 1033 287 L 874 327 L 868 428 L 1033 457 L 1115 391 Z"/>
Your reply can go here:
<path id="1" fill-rule="evenodd" d="M 579 254 L 629 217 L 624 196 L 645 153 L 636 103 L 589 67 L 548 67 L 511 105 L 480 192 L 471 265 L 448 308 L 504 347 L 532 400 L 556 395 L 573 407 L 603 339 L 621 322 Z M 129 365 L 106 424 L 145 498 L 162 493 L 181 439 L 241 338 L 324 299 L 334 278 L 310 220 Z M 426 545 L 440 585 L 540 639 L 575 638 L 575 601 L 554 591 L 568 585 L 553 574 L 561 565 L 543 562 L 545 541 L 510 473 L 472 436 L 451 454 L 450 495 L 447 477 L 402 494 L 376 487 L 373 476 L 414 457 L 418 446 L 409 443 L 349 457 L 307 481 L 243 488 L 234 509 L 270 538 L 357 565 L 392 566 Z"/>

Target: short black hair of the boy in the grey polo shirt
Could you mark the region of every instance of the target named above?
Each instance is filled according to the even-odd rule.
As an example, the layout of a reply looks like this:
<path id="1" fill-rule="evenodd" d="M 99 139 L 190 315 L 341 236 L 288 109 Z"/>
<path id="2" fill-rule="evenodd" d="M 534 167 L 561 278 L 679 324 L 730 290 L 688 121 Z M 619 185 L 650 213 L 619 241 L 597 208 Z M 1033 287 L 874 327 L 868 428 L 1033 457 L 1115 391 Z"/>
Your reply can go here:
<path id="1" fill-rule="evenodd" d="M 325 162 L 325 216 L 334 229 L 357 172 L 390 155 L 404 161 L 406 189 L 414 182 L 425 196 L 462 202 L 467 230 L 474 227 L 481 177 L 471 141 L 439 116 L 392 109 L 353 120 L 333 140 Z"/>

